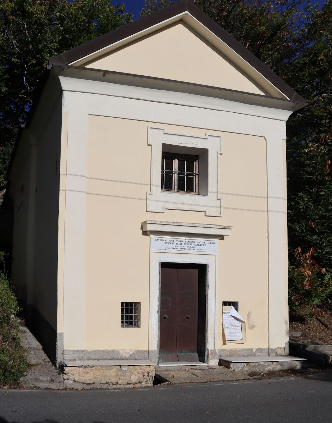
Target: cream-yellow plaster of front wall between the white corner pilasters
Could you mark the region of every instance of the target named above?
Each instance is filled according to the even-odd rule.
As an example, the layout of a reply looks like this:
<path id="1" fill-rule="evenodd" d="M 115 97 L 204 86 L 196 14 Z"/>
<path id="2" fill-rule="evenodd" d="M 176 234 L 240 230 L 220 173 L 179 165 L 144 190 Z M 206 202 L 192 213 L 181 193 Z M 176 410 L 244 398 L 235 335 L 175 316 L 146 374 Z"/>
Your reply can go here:
<path id="1" fill-rule="evenodd" d="M 147 132 L 148 126 L 152 124 L 103 116 L 88 118 L 85 349 L 148 349 L 147 281 L 150 269 L 147 264 L 150 249 L 149 238 L 142 235 L 140 222 L 165 220 L 212 225 L 221 223 L 220 218 L 207 217 L 202 211 L 166 210 L 162 218 L 146 211 L 146 192 L 150 187 L 151 170 L 151 147 L 147 145 Z M 233 230 L 231 236 L 219 241 L 217 302 L 222 304 L 228 298 L 239 301 L 240 310 L 244 310 L 246 319 L 249 313 L 251 320 L 246 346 L 266 347 L 266 140 L 264 137 L 217 132 L 208 128 L 165 124 L 163 127 L 169 132 L 188 135 L 203 136 L 209 131 L 223 139 L 224 152 L 220 155 L 220 195 L 224 204 L 222 225 L 233 226 Z M 125 160 L 119 160 L 119 157 Z M 256 162 L 254 168 L 253 161 Z M 255 228 L 255 234 L 252 228 Z M 131 333 L 121 329 L 118 312 L 119 304 L 123 298 L 128 297 L 128 292 L 128 300 L 140 301 L 142 310 L 141 327 Z M 96 308 L 104 310 L 102 321 Z M 220 322 L 221 313 L 220 307 L 217 316 Z M 110 321 L 114 322 L 111 332 Z M 219 326 L 217 348 L 223 348 Z M 107 333 L 109 336 L 104 336 Z M 224 347 L 230 348 L 231 345 Z"/>

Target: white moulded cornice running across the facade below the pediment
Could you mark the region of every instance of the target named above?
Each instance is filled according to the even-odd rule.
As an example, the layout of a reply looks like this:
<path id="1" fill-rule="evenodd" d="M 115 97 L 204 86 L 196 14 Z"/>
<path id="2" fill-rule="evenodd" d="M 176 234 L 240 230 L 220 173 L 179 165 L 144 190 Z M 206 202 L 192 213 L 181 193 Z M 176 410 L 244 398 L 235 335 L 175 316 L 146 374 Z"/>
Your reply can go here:
<path id="1" fill-rule="evenodd" d="M 178 81 L 159 81 L 139 76 L 103 74 L 81 69 L 58 68 L 63 91 L 102 96 L 126 97 L 158 103 L 203 107 L 244 115 L 287 121 L 303 105 L 280 99 L 255 96 L 239 91 L 189 85 Z M 88 77 L 89 79 L 85 79 Z M 100 77 L 102 80 L 92 80 Z"/>

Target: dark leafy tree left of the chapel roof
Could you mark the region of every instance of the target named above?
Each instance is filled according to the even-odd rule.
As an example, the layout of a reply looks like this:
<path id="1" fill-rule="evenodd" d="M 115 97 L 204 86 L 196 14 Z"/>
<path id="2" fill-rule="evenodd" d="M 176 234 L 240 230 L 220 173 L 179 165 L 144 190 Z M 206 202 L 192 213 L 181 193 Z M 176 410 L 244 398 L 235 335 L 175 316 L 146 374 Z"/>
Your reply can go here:
<path id="1" fill-rule="evenodd" d="M 0 190 L 17 129 L 25 123 L 48 60 L 132 18 L 108 0 L 0 3 Z"/>

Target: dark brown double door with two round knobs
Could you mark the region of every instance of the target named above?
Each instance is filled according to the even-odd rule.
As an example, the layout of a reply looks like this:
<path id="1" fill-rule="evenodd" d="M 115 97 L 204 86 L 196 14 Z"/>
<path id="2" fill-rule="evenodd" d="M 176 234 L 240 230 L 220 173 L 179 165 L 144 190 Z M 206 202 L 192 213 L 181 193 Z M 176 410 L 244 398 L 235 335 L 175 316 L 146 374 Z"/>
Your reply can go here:
<path id="1" fill-rule="evenodd" d="M 159 362 L 199 361 L 198 281 L 198 269 L 161 269 Z"/>

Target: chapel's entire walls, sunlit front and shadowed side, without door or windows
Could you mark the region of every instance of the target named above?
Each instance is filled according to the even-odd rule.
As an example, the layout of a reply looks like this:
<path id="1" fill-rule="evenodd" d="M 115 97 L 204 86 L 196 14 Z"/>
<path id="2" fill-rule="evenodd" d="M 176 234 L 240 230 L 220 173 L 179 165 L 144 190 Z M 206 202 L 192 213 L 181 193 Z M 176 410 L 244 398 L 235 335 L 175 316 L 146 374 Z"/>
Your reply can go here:
<path id="1" fill-rule="evenodd" d="M 52 66 L 16 150 L 13 283 L 31 324 L 57 363 L 158 363 L 161 266 L 199 264 L 203 361 L 287 354 L 285 122 L 302 105 L 187 12 L 117 43 Z M 162 151 L 198 156 L 197 194 L 162 191 Z M 228 301 L 243 343 L 225 343 Z M 121 302 L 140 303 L 139 327 L 121 327 Z"/>

